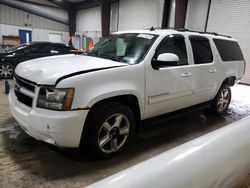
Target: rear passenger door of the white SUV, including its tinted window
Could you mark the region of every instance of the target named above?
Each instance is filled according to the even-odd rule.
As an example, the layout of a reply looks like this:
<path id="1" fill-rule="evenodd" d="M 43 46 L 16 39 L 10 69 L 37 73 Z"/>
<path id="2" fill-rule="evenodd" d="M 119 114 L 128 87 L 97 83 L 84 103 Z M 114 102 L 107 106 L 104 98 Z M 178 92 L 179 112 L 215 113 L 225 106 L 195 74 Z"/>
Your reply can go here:
<path id="1" fill-rule="evenodd" d="M 189 36 L 193 54 L 193 82 L 196 103 L 211 100 L 218 87 L 218 64 L 210 40 L 204 36 Z"/>

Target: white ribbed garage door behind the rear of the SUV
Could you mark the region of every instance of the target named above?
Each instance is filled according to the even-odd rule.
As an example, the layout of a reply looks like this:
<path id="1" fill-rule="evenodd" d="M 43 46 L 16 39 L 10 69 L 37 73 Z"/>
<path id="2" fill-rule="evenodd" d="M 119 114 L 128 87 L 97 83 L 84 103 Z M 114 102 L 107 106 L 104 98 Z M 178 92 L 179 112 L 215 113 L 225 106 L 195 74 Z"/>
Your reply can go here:
<path id="1" fill-rule="evenodd" d="M 236 38 L 247 62 L 243 83 L 250 84 L 250 1 L 212 0 L 207 31 Z"/>

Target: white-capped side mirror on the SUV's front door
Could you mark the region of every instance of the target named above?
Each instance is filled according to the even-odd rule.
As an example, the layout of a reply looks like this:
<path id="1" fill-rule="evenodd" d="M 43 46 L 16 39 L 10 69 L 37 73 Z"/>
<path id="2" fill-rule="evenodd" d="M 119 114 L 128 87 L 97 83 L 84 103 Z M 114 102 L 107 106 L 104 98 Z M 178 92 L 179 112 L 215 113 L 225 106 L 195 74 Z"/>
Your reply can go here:
<path id="1" fill-rule="evenodd" d="M 160 54 L 157 59 L 152 59 L 152 67 L 159 70 L 161 67 L 177 66 L 180 59 L 173 53 Z"/>

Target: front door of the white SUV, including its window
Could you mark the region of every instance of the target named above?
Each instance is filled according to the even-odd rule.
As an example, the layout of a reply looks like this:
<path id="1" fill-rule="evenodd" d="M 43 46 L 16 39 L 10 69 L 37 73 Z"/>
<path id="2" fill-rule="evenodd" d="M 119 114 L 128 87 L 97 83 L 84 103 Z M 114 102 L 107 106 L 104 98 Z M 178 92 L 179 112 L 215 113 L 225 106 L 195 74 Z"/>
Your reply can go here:
<path id="1" fill-rule="evenodd" d="M 189 65 L 186 41 L 183 35 L 169 35 L 159 44 L 153 58 L 163 53 L 179 57 L 175 66 L 163 66 L 158 70 L 146 62 L 145 118 L 190 106 L 193 95 L 192 68 Z"/>

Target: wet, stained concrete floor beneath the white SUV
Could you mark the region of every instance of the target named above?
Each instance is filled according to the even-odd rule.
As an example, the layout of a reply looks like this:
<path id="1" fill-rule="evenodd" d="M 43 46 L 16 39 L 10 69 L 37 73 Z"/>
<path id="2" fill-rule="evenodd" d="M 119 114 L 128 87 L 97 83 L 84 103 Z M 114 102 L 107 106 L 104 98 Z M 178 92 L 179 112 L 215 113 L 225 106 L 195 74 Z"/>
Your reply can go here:
<path id="1" fill-rule="evenodd" d="M 105 161 L 78 150 L 60 150 L 24 133 L 10 114 L 0 81 L 0 187 L 84 187 L 157 154 L 250 115 L 250 87 L 234 86 L 226 115 L 206 110 L 174 120 L 144 124 L 128 151 Z M 238 183 L 238 182 L 237 182 Z M 236 185 L 250 187 L 250 176 Z"/>

